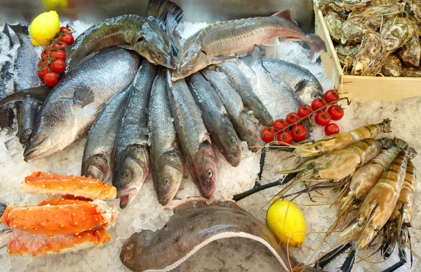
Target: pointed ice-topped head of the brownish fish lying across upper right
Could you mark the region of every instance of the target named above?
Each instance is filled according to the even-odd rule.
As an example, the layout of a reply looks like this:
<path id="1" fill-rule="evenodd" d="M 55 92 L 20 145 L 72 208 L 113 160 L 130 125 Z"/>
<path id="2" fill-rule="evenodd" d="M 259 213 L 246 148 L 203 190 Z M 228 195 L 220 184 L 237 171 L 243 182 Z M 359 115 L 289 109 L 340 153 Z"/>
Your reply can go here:
<path id="1" fill-rule="evenodd" d="M 175 71 L 171 80 L 184 79 L 207 67 L 209 64 L 208 55 L 201 50 L 199 43 L 192 43 L 192 46 L 183 46 L 177 56 L 177 60 L 175 60 Z"/>

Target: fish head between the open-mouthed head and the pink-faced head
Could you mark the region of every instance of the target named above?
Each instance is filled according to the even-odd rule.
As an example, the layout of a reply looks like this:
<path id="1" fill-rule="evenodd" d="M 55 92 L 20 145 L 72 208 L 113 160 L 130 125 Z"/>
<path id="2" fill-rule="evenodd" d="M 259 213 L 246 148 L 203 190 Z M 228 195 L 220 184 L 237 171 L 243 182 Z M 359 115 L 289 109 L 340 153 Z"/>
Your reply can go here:
<path id="1" fill-rule="evenodd" d="M 166 152 L 158 165 L 163 167 L 156 171 L 156 182 L 154 182 L 156 196 L 161 205 L 167 205 L 178 192 L 184 174 L 180 151 L 174 149 Z"/>

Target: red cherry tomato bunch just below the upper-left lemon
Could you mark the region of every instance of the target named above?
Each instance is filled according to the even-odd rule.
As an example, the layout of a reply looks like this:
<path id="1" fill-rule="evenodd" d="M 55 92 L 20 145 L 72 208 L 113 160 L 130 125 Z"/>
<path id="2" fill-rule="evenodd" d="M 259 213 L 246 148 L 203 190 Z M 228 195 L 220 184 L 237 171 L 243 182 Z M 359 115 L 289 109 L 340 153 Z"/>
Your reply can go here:
<path id="1" fill-rule="evenodd" d="M 53 87 L 58 82 L 58 75 L 65 72 L 66 53 L 62 50 L 74 42 L 74 31 L 67 27 L 60 27 L 60 32 L 55 35 L 41 53 L 38 62 L 38 76 L 47 86 Z"/>

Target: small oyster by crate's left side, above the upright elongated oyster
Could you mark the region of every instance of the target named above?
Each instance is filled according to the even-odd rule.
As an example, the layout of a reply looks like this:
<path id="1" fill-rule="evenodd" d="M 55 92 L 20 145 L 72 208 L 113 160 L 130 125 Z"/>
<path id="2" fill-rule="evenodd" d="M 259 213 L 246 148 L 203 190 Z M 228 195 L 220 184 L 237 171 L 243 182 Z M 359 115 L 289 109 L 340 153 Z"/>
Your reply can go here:
<path id="1" fill-rule="evenodd" d="M 375 27 L 363 16 L 348 18 L 342 25 L 340 43 L 355 44 L 361 42 L 364 30 L 375 31 Z"/>

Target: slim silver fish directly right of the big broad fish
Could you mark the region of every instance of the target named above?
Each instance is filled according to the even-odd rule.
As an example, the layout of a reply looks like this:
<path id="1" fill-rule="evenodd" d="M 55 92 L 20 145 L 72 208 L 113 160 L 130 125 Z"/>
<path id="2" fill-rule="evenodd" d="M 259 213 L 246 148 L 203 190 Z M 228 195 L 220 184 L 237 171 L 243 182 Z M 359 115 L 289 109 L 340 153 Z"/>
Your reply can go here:
<path id="1" fill-rule="evenodd" d="M 81 169 L 83 176 L 99 179 L 102 182 L 106 182 L 112 176 L 112 154 L 114 154 L 117 129 L 130 90 L 128 87 L 111 97 L 95 119 L 83 150 Z"/>

